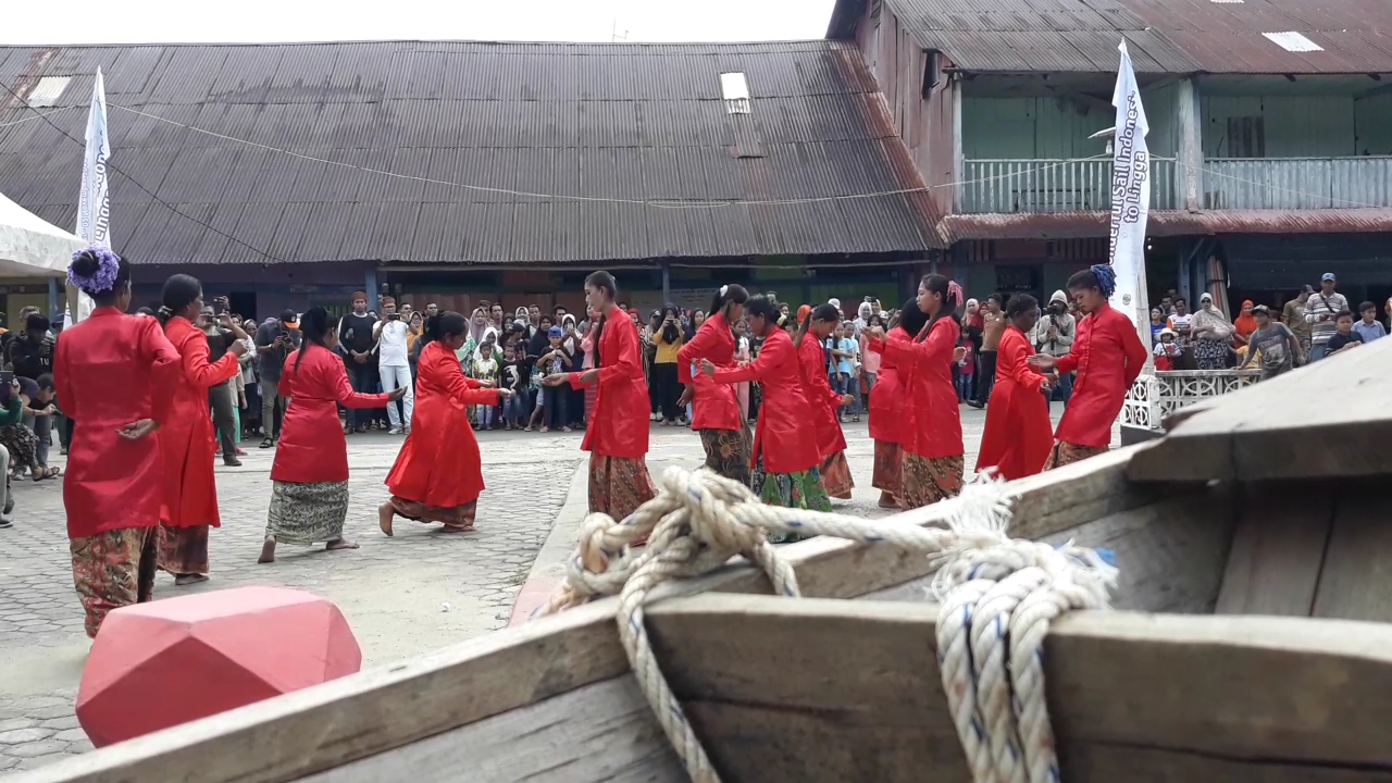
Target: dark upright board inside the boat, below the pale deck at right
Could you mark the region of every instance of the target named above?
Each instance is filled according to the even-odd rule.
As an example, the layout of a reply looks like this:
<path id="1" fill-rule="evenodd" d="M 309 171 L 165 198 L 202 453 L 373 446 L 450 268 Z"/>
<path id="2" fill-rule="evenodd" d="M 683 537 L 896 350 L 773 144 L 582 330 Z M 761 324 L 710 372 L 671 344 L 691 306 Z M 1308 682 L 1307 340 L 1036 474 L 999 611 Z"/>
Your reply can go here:
<path id="1" fill-rule="evenodd" d="M 1215 612 L 1308 617 L 1332 520 L 1328 482 L 1244 485 Z"/>

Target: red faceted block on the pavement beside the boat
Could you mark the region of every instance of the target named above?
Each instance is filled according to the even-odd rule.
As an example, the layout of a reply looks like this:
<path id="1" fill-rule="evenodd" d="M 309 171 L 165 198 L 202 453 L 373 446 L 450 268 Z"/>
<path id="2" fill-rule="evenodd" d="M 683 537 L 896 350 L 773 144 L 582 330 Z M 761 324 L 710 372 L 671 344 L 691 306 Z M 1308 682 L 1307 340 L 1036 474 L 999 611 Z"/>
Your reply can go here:
<path id="1" fill-rule="evenodd" d="M 77 713 L 96 747 L 352 674 L 342 612 L 308 592 L 245 587 L 107 614 Z"/>

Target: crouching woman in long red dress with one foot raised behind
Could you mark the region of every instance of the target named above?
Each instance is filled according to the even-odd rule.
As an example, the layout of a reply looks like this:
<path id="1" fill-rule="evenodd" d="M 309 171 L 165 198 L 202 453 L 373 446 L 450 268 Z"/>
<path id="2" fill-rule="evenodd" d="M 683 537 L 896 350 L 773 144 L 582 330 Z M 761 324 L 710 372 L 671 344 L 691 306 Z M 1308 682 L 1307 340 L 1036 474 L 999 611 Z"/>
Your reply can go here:
<path id="1" fill-rule="evenodd" d="M 447 532 L 469 532 L 483 493 L 483 464 L 469 405 L 496 405 L 512 392 L 483 389 L 464 376 L 455 357 L 469 339 L 462 315 L 432 315 L 420 339 L 426 346 L 418 362 L 411 435 L 387 474 L 391 497 L 377 507 L 377 524 L 387 535 L 393 534 L 393 517 L 444 522 Z"/>

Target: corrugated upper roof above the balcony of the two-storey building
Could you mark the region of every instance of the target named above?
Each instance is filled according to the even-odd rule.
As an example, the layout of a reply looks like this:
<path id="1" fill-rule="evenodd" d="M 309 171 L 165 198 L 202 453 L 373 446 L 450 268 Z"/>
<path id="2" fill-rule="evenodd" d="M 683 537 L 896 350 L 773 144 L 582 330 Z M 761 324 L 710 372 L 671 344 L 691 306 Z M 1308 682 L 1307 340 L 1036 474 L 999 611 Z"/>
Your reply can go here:
<path id="1" fill-rule="evenodd" d="M 848 38 L 866 0 L 839 0 L 830 38 Z M 1109 72 L 1125 38 L 1137 72 L 1364 74 L 1392 71 L 1386 0 L 885 0 L 924 49 L 977 72 Z M 1321 52 L 1263 33 L 1297 32 Z"/>

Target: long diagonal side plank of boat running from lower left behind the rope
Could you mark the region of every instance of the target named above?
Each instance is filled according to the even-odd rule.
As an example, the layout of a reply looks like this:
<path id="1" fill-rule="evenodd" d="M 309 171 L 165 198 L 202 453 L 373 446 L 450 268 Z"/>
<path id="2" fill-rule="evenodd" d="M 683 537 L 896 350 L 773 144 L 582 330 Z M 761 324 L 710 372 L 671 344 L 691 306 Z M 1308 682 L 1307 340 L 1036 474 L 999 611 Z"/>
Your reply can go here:
<path id="1" fill-rule="evenodd" d="M 1151 502 L 1162 488 L 1126 479 L 1153 443 L 1012 482 L 1022 538 L 1058 534 Z M 942 524 L 952 502 L 898 514 Z M 812 539 L 784 548 L 807 596 L 855 598 L 930 571 L 922 553 Z M 703 591 L 770 592 L 736 561 L 717 574 L 663 585 L 654 599 Z M 614 599 L 544 617 L 405 663 L 363 672 L 103 748 L 19 776 L 15 783 L 284 783 L 500 715 L 628 670 Z"/>

